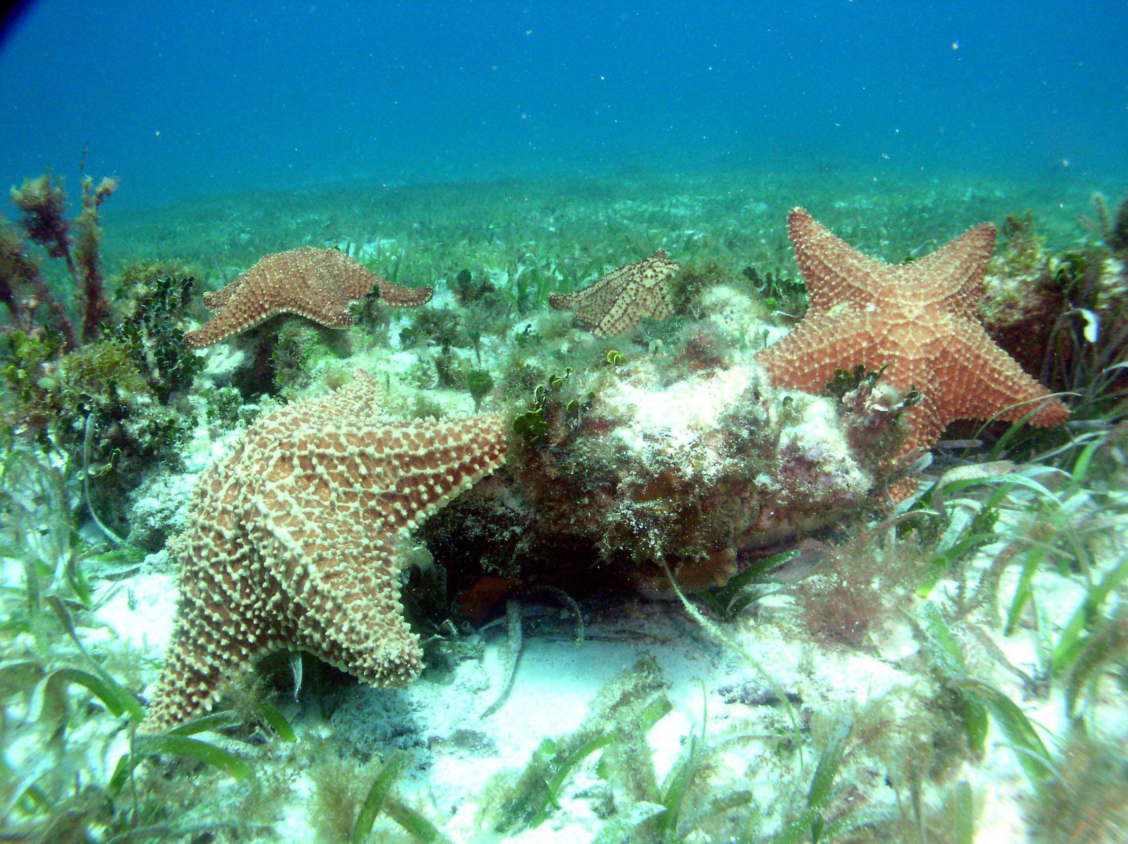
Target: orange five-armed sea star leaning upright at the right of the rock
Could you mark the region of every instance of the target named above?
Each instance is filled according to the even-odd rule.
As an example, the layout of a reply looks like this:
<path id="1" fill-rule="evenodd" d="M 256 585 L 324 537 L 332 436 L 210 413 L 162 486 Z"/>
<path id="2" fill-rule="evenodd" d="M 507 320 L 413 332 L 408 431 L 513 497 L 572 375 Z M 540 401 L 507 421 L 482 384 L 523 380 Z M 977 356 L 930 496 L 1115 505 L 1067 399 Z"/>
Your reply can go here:
<path id="1" fill-rule="evenodd" d="M 897 266 L 857 252 L 801 208 L 788 216 L 787 230 L 811 305 L 799 326 L 756 360 L 774 384 L 805 393 L 822 393 L 836 369 L 887 367 L 885 384 L 922 395 L 906 415 L 913 431 L 895 461 L 931 448 L 950 422 L 996 414 L 1014 421 L 1049 395 L 976 317 L 995 248 L 990 223 Z M 1051 425 L 1068 415 L 1048 399 L 1030 422 Z M 900 484 L 890 494 L 904 498 L 914 486 Z"/>

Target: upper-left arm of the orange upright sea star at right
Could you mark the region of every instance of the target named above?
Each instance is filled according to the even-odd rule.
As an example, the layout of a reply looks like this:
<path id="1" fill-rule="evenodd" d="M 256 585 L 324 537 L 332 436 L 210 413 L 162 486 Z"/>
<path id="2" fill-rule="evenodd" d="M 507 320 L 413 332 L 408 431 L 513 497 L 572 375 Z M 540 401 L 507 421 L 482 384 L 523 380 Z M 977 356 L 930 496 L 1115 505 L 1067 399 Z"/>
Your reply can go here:
<path id="1" fill-rule="evenodd" d="M 835 237 L 805 209 L 793 209 L 787 216 L 787 234 L 807 283 L 811 316 L 825 314 L 841 301 L 865 305 L 873 299 L 873 282 L 891 278 L 888 264 Z"/>

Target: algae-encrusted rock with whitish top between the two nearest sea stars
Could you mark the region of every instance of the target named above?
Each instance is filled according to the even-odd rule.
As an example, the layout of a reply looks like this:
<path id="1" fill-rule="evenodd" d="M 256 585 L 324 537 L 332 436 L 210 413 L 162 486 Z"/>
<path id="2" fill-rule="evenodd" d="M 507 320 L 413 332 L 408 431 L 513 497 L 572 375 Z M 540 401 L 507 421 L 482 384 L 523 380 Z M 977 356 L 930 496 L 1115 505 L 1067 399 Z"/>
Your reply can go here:
<path id="1" fill-rule="evenodd" d="M 538 387 L 514 420 L 505 472 L 425 529 L 456 584 L 469 570 L 580 592 L 664 590 L 666 564 L 700 589 L 732 577 L 742 551 L 872 503 L 875 474 L 847 443 L 849 408 L 776 392 L 750 362 L 663 383 L 667 366 L 643 358 Z"/>

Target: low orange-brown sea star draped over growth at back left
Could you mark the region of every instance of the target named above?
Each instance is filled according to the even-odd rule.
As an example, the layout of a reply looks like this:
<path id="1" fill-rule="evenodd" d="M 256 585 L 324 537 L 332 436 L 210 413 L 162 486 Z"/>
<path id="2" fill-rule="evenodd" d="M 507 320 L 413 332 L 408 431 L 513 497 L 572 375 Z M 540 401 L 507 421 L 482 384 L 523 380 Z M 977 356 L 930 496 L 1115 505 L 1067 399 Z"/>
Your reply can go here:
<path id="1" fill-rule="evenodd" d="M 379 285 L 380 298 L 397 307 L 416 307 L 432 289 L 405 288 L 381 279 L 340 249 L 300 249 L 267 255 L 222 290 L 204 293 L 204 307 L 217 311 L 184 340 L 192 349 L 221 343 L 279 314 L 299 314 L 327 328 L 353 324 L 349 306 Z"/>

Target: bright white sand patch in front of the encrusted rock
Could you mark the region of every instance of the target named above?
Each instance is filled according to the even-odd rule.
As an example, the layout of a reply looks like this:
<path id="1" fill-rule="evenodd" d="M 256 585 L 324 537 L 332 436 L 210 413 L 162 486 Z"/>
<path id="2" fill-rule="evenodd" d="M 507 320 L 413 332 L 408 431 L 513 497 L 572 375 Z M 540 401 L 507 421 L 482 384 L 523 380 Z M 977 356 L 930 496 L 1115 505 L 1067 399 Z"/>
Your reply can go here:
<path id="1" fill-rule="evenodd" d="M 536 608 L 532 613 L 536 613 Z M 591 614 L 591 610 L 587 610 Z M 502 683 L 499 652 L 504 634 L 491 632 L 481 661 L 458 665 L 450 676 L 424 677 L 405 689 L 358 687 L 334 716 L 333 729 L 379 737 L 379 746 L 414 748 L 413 771 L 399 793 L 416 802 L 455 841 L 479 839 L 475 820 L 487 781 L 502 771 L 519 774 L 545 738 L 561 738 L 580 727 L 600 689 L 646 657 L 655 661 L 673 704 L 647 733 L 659 782 L 685 753 L 690 733 L 710 744 L 735 735 L 778 735 L 787 720 L 773 703 L 770 684 L 759 669 L 713 640 L 678 605 L 643 605 L 600 610 L 589 618 L 588 640 L 576 644 L 573 623 L 545 612 L 540 623 L 526 621 L 526 641 L 512 691 L 502 707 L 482 719 Z M 538 632 L 530 633 L 538 628 Z M 800 694 L 812 711 L 844 711 L 895 692 L 927 686 L 917 675 L 887 660 L 855 652 L 818 652 L 779 627 L 743 618 L 724 625 L 728 635 L 759 661 L 787 694 Z M 717 788 L 752 789 L 768 811 L 797 775 L 775 742 L 744 742 L 715 758 Z M 600 753 L 581 763 L 561 794 L 562 809 L 537 829 L 513 841 L 590 842 L 601 821 L 589 789 L 600 786 Z M 601 788 L 601 786 L 600 786 Z M 887 794 L 891 799 L 891 792 Z"/>

